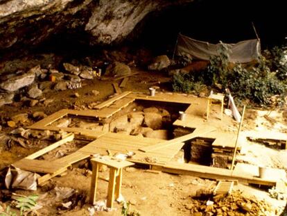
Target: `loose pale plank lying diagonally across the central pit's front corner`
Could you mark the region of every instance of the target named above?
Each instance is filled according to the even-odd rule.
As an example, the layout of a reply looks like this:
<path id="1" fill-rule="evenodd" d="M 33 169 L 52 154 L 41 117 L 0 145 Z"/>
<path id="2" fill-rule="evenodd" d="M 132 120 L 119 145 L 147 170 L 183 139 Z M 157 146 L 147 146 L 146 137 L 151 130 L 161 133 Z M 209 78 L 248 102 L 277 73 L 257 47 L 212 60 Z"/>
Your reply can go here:
<path id="1" fill-rule="evenodd" d="M 214 131 L 214 128 L 196 128 L 195 131 L 193 131 L 193 133 L 189 133 L 187 135 L 183 135 L 179 138 L 175 138 L 173 140 L 168 140 L 168 141 L 162 142 L 160 144 L 154 144 L 154 145 L 151 145 L 149 147 L 143 147 L 139 150 L 143 151 L 143 152 L 149 152 L 149 151 L 154 151 L 157 149 L 163 149 L 163 148 L 169 147 L 169 146 L 171 146 L 175 143 L 178 143 L 178 142 L 184 142 L 186 140 L 191 140 L 193 138 L 197 138 L 201 135 L 205 135 L 206 133 L 210 133 L 211 131 Z"/>

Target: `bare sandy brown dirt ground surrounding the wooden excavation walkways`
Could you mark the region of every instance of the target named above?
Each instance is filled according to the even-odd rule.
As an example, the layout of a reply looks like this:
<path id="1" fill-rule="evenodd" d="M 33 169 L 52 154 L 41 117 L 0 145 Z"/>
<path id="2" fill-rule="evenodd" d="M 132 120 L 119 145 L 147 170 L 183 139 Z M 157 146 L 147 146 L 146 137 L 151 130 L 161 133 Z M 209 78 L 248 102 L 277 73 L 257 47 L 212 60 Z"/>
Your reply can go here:
<path id="1" fill-rule="evenodd" d="M 139 72 L 138 75 L 129 78 L 124 90 L 132 92 L 148 93 L 148 88 L 152 85 L 160 87 L 160 91 L 171 91 L 170 79 L 166 74 L 159 72 L 145 72 L 139 69 L 134 69 L 134 72 Z M 4 122 L 7 121 L 12 115 L 18 113 L 28 113 L 32 115 L 36 111 L 42 111 L 46 115 L 50 115 L 55 111 L 62 108 L 87 108 L 89 103 L 102 101 L 107 99 L 110 95 L 114 94 L 114 89 L 111 81 L 100 81 L 94 79 L 92 81 L 85 81 L 82 88 L 75 90 L 65 90 L 62 92 L 49 92 L 44 94 L 46 99 L 53 99 L 53 103 L 48 106 L 40 104 L 33 107 L 22 106 L 22 103 L 14 102 L 10 106 L 3 106 L 0 108 L 0 116 L 2 121 L 2 131 L 9 132 L 12 128 L 6 126 Z M 100 94 L 94 96 L 92 90 L 98 90 Z M 80 97 L 75 97 L 75 93 Z M 245 124 L 243 124 L 243 131 L 263 131 L 272 130 L 286 132 L 287 124 L 284 122 L 281 110 L 273 110 L 269 115 L 275 122 L 268 121 L 263 117 L 267 111 L 247 109 L 245 116 Z M 267 113 L 268 114 L 268 113 Z M 224 119 L 227 119 L 224 117 Z M 31 119 L 31 122 L 17 126 L 28 126 L 36 122 Z M 227 119 L 230 124 L 230 119 Z M 223 124 L 227 123 L 223 121 Z M 232 120 L 232 125 L 229 126 L 230 133 L 236 133 L 235 121 Z M 266 163 L 271 167 L 278 167 L 287 170 L 287 152 L 286 150 L 272 149 L 264 147 L 262 144 L 249 142 L 249 149 L 246 157 L 256 158 L 258 161 L 253 163 Z M 44 146 L 34 144 L 31 148 L 24 148 L 19 145 L 12 145 L 10 149 L 3 149 L 0 154 L 0 168 L 6 167 L 15 161 L 28 156 L 41 149 Z M 269 159 L 268 159 L 269 158 Z M 281 159 L 280 159 L 281 158 Z M 242 160 L 247 160 L 243 158 Z M 108 170 L 103 170 L 101 176 L 104 178 L 108 176 Z M 43 207 L 37 210 L 39 215 L 90 215 L 88 204 L 89 199 L 89 186 L 91 179 L 91 171 L 89 163 L 84 161 L 79 163 L 78 166 L 73 167 L 64 176 L 57 176 L 53 180 L 38 188 L 36 192 L 15 190 L 18 194 L 31 194 L 36 193 L 40 195 L 38 203 Z M 2 181 L 2 179 L 1 179 Z M 190 200 L 196 194 L 198 189 L 212 190 L 216 185 L 216 181 L 205 180 L 193 176 L 171 175 L 165 173 L 150 173 L 144 167 L 128 167 L 123 171 L 123 188 L 122 195 L 125 201 L 129 201 L 131 210 L 137 210 L 141 215 L 191 215 Z M 55 188 L 72 188 L 76 190 L 76 195 L 73 195 L 73 208 L 65 209 L 62 203 L 69 200 L 55 199 Z M 239 184 L 235 190 L 241 190 L 248 196 L 254 196 L 256 199 L 265 199 L 271 203 L 272 207 L 282 210 L 285 206 L 284 201 L 272 199 L 268 195 L 267 190 L 262 188 L 252 188 L 247 185 Z M 107 183 L 100 181 L 98 183 L 97 200 L 106 199 Z M 3 191 L 2 191 L 3 192 Z M 2 196 L 3 198 L 3 196 Z M 3 200 L 2 200 L 3 201 Z M 5 202 L 3 202 L 5 204 Z M 3 203 L 0 202 L 2 205 Z M 3 204 L 3 205 L 4 205 Z M 9 202 L 6 202 L 9 204 Z M 2 206 L 3 206 L 2 205 Z M 98 211 L 96 215 L 121 215 L 122 205 L 119 203 L 114 204 L 114 210 Z"/>

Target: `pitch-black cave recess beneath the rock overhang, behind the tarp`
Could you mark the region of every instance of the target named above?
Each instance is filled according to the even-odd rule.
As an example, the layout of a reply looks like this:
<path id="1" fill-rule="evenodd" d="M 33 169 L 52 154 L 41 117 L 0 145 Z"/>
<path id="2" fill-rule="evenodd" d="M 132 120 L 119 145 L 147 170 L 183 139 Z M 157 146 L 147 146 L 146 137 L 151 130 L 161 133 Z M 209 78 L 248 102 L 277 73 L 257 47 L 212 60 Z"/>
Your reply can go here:
<path id="1" fill-rule="evenodd" d="M 196 40 L 236 43 L 256 38 L 252 22 L 261 40 L 261 49 L 284 44 L 284 1 L 196 0 L 184 6 L 170 7 L 146 16 L 121 44 L 91 47 L 87 35 L 76 31 L 58 33 L 33 52 L 53 52 L 65 56 L 94 55 L 102 49 L 128 46 L 172 55 L 178 33 Z"/>

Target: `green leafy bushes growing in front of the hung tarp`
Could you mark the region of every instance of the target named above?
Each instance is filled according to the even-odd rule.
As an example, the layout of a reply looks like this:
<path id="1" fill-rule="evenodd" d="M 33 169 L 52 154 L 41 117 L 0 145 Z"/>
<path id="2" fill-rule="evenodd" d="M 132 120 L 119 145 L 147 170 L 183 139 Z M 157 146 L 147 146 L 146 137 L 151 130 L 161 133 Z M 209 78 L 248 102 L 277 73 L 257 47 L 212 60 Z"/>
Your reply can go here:
<path id="1" fill-rule="evenodd" d="M 203 86 L 218 90 L 231 90 L 237 102 L 248 100 L 263 106 L 281 103 L 287 88 L 286 47 L 264 51 L 256 63 L 229 63 L 229 49 L 220 42 L 218 56 L 212 56 L 204 71 L 175 74 L 173 90 L 177 92 L 200 92 Z"/>

